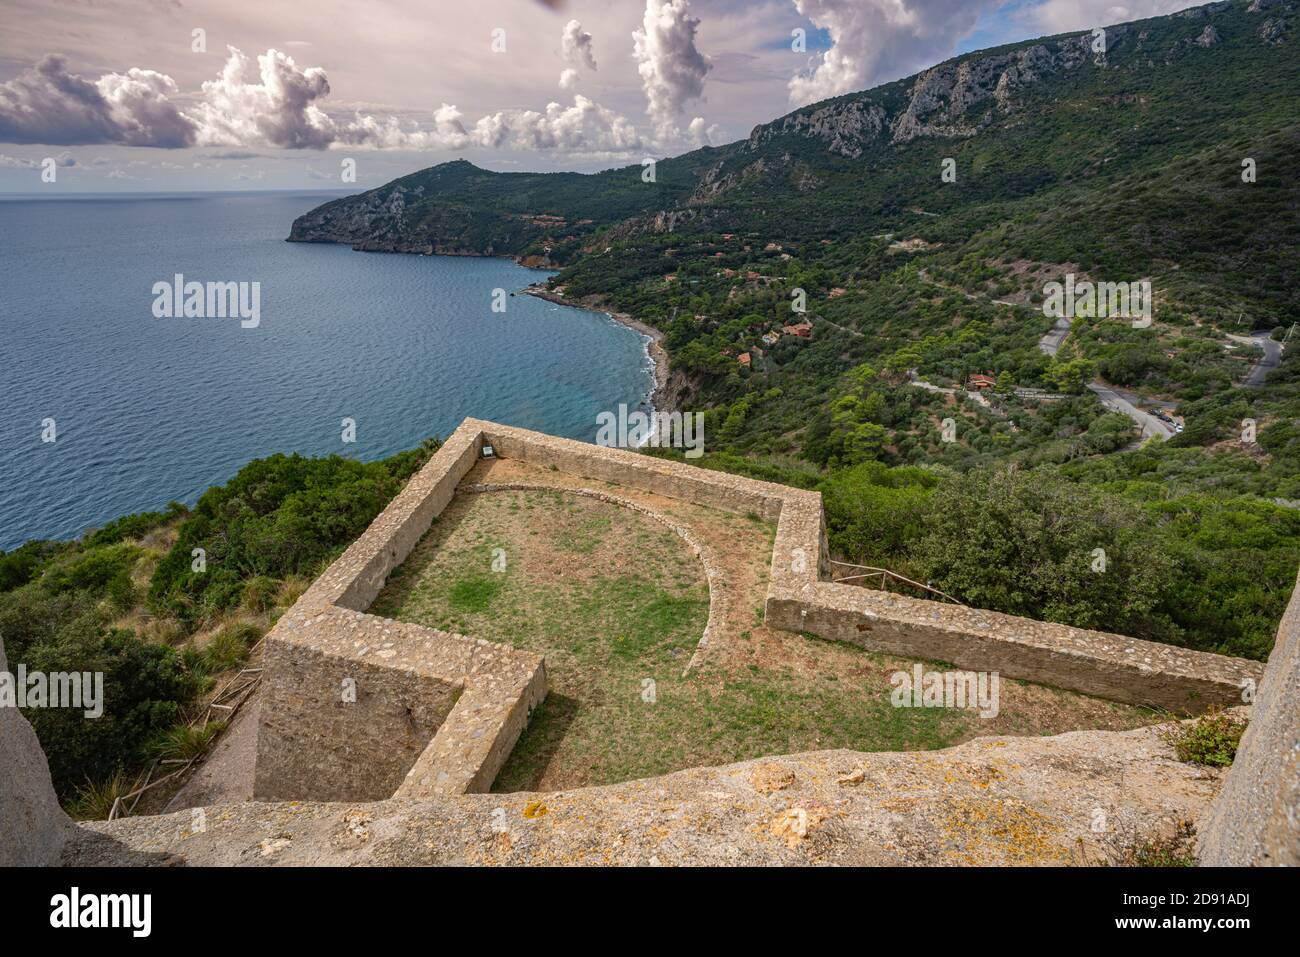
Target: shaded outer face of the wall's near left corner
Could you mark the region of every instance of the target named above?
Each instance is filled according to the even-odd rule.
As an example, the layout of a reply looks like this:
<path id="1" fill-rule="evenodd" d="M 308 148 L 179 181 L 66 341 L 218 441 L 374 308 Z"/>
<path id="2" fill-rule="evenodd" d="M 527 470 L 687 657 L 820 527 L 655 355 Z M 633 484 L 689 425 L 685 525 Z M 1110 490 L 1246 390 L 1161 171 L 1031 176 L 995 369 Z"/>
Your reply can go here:
<path id="1" fill-rule="evenodd" d="M 268 640 L 263 667 L 259 801 L 391 797 L 460 696 L 450 681 L 290 641 Z"/>

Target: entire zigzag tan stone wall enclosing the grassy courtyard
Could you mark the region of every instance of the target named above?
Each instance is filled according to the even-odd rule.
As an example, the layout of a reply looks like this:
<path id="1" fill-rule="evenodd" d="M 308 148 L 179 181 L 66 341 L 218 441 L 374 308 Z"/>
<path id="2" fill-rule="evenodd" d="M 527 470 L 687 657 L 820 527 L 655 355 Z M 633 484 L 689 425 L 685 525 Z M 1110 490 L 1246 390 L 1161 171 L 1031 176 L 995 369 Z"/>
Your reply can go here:
<path id="1" fill-rule="evenodd" d="M 1257 662 L 836 584 L 818 493 L 467 419 L 268 636 L 259 797 L 417 797 L 491 785 L 545 696 L 541 658 L 364 614 L 484 445 L 571 476 L 775 521 L 766 616 L 777 628 L 1179 713 L 1240 703 L 1262 675 Z M 364 684 L 344 706 L 335 685 L 350 675 Z M 358 707 L 363 689 L 369 703 Z"/>

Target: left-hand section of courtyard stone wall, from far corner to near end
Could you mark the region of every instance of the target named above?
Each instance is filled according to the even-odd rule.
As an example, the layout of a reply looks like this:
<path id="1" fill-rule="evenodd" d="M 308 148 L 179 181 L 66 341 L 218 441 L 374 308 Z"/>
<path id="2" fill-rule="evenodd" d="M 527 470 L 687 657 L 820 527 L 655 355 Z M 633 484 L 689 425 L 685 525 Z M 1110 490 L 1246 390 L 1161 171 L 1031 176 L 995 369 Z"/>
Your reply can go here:
<path id="1" fill-rule="evenodd" d="M 458 429 L 266 636 L 256 798 L 491 787 L 546 696 L 542 658 L 365 614 L 480 449 Z"/>

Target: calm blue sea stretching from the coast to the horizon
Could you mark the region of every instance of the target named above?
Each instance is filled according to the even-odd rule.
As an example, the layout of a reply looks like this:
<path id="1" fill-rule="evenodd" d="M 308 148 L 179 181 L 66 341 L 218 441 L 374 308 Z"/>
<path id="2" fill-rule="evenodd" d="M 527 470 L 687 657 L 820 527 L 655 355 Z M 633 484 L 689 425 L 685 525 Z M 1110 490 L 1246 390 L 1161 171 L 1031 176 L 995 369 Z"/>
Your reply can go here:
<path id="1" fill-rule="evenodd" d="M 590 441 L 647 407 L 642 335 L 508 296 L 546 273 L 283 241 L 335 195 L 0 202 L 0 550 L 194 503 L 272 452 L 369 460 L 465 416 Z M 259 325 L 155 317 L 177 273 L 260 282 Z"/>

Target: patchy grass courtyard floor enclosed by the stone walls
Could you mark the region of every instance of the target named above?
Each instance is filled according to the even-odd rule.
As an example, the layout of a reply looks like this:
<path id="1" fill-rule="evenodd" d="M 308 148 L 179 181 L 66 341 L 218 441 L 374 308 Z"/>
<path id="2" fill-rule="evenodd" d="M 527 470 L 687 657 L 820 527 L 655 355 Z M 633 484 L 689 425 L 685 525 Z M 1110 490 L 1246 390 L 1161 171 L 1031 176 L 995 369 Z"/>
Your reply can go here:
<path id="1" fill-rule="evenodd" d="M 770 525 L 684 508 L 693 527 L 711 524 L 733 544 L 728 575 L 753 581 L 751 602 L 729 609 L 723 641 L 686 677 L 708 618 L 702 564 L 662 524 L 590 497 L 458 495 L 376 599 L 378 615 L 546 655 L 550 692 L 498 791 L 606 784 L 764 754 L 932 749 L 983 733 L 1152 720 L 1053 689 L 1028 687 L 1026 697 L 1013 681 L 1004 681 L 996 727 L 974 713 L 896 709 L 888 675 L 910 663 L 762 624 Z"/>

